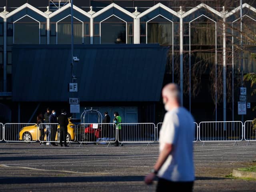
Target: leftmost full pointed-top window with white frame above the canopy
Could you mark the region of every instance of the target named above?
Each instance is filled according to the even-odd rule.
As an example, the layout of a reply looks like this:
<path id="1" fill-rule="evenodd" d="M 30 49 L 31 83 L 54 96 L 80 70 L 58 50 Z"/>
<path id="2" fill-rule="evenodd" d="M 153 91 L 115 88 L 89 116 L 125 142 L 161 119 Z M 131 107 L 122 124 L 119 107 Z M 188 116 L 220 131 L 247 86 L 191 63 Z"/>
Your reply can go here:
<path id="1" fill-rule="evenodd" d="M 15 22 L 14 44 L 39 44 L 39 22 L 28 16 Z"/>

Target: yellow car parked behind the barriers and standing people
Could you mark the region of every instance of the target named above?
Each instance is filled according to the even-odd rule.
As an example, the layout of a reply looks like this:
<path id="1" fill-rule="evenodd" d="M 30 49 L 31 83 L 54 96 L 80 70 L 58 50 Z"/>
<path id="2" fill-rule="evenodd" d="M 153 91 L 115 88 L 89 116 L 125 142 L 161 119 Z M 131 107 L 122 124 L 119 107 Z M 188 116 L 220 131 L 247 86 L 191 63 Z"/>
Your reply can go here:
<path id="1" fill-rule="evenodd" d="M 68 119 L 68 134 L 67 134 L 67 141 L 74 141 L 75 140 L 75 124 L 80 122 L 78 119 Z M 55 141 L 58 141 L 58 133 L 59 133 L 60 125 L 58 125 L 57 133 L 55 136 Z M 44 129 L 46 131 L 46 129 Z M 37 137 L 36 137 L 37 134 Z M 39 141 L 40 138 L 40 130 L 37 130 L 36 125 L 26 126 L 20 130 L 19 133 L 19 140 L 30 142 L 30 141 Z M 46 141 L 46 136 L 44 136 L 44 140 Z"/>

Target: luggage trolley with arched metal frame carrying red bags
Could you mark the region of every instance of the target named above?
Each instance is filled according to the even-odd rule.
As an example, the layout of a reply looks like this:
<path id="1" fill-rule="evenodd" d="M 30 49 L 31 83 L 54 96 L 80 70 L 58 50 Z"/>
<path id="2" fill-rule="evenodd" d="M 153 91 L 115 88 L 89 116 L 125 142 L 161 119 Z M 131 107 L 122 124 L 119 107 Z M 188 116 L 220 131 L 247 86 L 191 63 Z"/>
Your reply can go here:
<path id="1" fill-rule="evenodd" d="M 101 128 L 99 124 L 102 123 L 102 114 L 96 109 L 86 110 L 81 114 L 80 138 L 81 144 L 95 143 L 101 137 Z M 80 144 L 80 146 L 81 146 Z"/>

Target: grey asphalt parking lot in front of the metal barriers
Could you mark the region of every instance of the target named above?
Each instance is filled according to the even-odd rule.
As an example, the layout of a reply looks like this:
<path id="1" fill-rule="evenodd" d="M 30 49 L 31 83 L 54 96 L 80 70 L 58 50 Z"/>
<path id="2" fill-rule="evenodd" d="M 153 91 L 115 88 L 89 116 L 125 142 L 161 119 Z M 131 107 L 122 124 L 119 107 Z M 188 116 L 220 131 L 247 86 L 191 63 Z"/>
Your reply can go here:
<path id="1" fill-rule="evenodd" d="M 154 191 L 144 176 L 158 156 L 158 144 L 124 147 L 88 144 L 78 147 L 39 143 L 0 143 L 0 191 Z M 228 178 L 234 168 L 256 165 L 256 143 L 194 144 L 194 192 L 255 192 L 256 180 Z"/>

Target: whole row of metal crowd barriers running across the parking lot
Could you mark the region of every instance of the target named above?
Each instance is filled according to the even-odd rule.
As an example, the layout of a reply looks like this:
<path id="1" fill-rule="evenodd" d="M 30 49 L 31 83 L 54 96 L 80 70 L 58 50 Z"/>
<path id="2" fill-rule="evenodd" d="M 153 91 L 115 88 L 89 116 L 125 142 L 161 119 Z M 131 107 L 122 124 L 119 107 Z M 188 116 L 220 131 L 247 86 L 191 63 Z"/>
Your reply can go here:
<path id="1" fill-rule="evenodd" d="M 118 131 L 113 123 L 86 123 L 68 126 L 66 141 L 81 144 L 153 143 L 159 141 L 159 131 L 163 123 L 121 123 Z M 256 129 L 252 121 L 213 121 L 194 122 L 193 142 L 236 142 L 256 141 Z M 0 123 L 0 141 L 5 142 L 42 142 L 60 141 L 59 125 L 33 123 Z M 52 136 L 48 137 L 49 133 Z"/>

